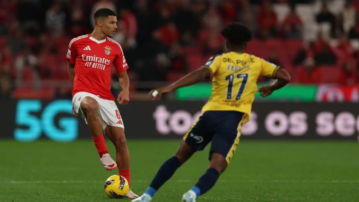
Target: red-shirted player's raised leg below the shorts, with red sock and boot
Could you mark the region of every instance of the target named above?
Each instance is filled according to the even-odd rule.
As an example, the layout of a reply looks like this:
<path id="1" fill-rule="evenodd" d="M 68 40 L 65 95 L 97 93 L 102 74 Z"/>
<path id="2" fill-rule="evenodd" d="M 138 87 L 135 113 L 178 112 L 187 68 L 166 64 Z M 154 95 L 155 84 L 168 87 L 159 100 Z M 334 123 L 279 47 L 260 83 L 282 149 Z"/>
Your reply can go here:
<path id="1" fill-rule="evenodd" d="M 85 97 L 81 101 L 80 107 L 86 117 L 93 142 L 95 143 L 103 166 L 107 170 L 117 168 L 116 162 L 112 160 L 108 154 L 106 142 L 102 134 L 102 121 L 100 119 L 98 102 L 94 98 Z"/>

